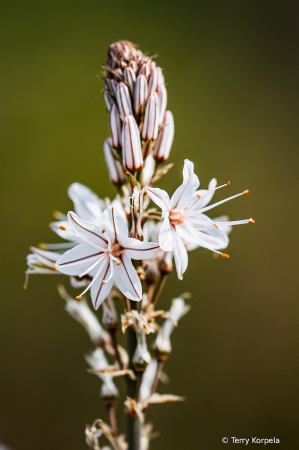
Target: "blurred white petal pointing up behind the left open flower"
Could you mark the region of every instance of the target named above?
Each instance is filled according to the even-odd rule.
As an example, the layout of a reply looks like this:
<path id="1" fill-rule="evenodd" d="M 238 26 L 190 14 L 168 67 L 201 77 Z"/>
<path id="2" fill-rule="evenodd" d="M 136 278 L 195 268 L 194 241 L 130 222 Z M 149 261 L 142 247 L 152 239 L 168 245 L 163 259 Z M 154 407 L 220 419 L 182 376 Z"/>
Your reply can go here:
<path id="1" fill-rule="evenodd" d="M 68 196 L 74 202 L 74 208 L 79 217 L 95 222 L 102 215 L 99 197 L 81 183 L 73 183 L 68 188 Z"/>

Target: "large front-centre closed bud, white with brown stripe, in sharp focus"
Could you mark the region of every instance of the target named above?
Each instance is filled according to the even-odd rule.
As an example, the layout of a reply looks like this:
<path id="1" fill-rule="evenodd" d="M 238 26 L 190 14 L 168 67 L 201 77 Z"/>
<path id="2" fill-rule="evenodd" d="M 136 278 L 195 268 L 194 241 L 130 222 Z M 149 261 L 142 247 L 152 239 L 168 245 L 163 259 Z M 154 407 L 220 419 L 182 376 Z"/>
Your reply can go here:
<path id="1" fill-rule="evenodd" d="M 135 172 L 143 166 L 141 143 L 137 123 L 133 116 L 126 116 L 122 130 L 123 164 Z"/>

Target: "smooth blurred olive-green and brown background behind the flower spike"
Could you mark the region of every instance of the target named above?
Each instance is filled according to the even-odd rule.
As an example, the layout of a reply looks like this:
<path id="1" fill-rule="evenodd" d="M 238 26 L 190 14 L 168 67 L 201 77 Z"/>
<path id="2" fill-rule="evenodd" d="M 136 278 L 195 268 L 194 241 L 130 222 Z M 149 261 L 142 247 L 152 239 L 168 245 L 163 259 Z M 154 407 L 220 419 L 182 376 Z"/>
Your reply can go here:
<path id="1" fill-rule="evenodd" d="M 168 281 L 161 307 L 191 291 L 192 312 L 159 391 L 187 402 L 151 408 L 162 432 L 151 448 L 220 449 L 223 436 L 298 448 L 298 2 L 4 0 L 1 10 L 0 442 L 79 450 L 85 424 L 106 418 L 83 358 L 92 345 L 56 291 L 63 277 L 22 286 L 28 248 L 56 241 L 48 222 L 72 207 L 73 181 L 114 196 L 96 75 L 109 44 L 127 39 L 164 68 L 176 134 L 161 186 L 181 183 L 188 157 L 203 187 L 231 181 L 217 200 L 250 189 L 215 215 L 256 220 L 233 230 L 229 260 L 198 250 L 184 280 Z"/>

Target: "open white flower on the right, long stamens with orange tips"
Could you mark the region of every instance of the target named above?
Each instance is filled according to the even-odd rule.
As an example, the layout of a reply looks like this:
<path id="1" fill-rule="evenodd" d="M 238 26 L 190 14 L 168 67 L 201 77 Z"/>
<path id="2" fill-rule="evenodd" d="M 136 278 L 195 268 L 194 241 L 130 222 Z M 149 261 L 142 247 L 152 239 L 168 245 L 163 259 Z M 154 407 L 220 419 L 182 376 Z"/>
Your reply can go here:
<path id="1" fill-rule="evenodd" d="M 183 273 L 188 265 L 188 255 L 184 241 L 205 247 L 228 258 L 228 255 L 217 250 L 223 249 L 228 245 L 227 227 L 254 222 L 252 219 L 232 222 L 219 220 L 217 222 L 206 216 L 204 213 L 215 206 L 240 195 L 248 194 L 248 191 L 244 191 L 213 205 L 206 206 L 213 197 L 215 190 L 218 189 L 216 184 L 216 179 L 213 178 L 207 190 L 201 189 L 197 191 L 199 179 L 194 173 L 193 163 L 186 159 L 183 169 L 183 183 L 176 189 L 171 199 L 167 192 L 162 189 L 146 188 L 150 198 L 162 209 L 164 222 L 159 235 L 160 247 L 164 251 L 173 251 L 180 280 L 183 278 Z"/>

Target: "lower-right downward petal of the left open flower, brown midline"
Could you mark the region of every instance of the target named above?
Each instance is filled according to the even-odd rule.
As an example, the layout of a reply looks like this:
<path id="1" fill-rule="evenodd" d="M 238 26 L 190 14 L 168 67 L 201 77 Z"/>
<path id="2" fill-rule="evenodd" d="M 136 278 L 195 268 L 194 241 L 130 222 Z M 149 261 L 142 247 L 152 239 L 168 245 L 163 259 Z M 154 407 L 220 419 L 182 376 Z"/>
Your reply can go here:
<path id="1" fill-rule="evenodd" d="M 140 301 L 142 287 L 131 258 L 123 252 L 119 258 L 121 264 L 115 268 L 114 282 L 120 291 L 131 300 Z"/>

